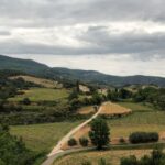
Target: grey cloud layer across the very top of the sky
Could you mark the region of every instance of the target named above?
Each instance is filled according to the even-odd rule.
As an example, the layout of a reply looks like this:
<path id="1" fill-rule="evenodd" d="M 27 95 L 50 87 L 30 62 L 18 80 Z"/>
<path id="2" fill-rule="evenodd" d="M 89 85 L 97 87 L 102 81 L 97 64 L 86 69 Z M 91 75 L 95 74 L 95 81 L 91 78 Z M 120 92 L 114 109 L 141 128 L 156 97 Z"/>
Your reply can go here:
<path id="1" fill-rule="evenodd" d="M 0 0 L 7 24 L 53 26 L 76 23 L 151 20 L 165 22 L 164 0 Z M 19 24 L 20 23 L 20 24 Z"/>

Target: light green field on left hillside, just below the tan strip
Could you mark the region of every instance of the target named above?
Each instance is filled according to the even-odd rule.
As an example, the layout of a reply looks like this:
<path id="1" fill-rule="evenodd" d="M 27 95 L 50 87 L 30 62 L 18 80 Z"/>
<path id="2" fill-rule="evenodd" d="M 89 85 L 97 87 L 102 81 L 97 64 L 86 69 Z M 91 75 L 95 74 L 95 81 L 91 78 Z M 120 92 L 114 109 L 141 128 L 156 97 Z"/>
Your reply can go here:
<path id="1" fill-rule="evenodd" d="M 10 101 L 21 101 L 23 98 L 29 98 L 31 101 L 54 101 L 68 97 L 69 91 L 66 89 L 51 88 L 31 88 L 25 90 L 23 95 L 18 95 L 10 98 Z"/>

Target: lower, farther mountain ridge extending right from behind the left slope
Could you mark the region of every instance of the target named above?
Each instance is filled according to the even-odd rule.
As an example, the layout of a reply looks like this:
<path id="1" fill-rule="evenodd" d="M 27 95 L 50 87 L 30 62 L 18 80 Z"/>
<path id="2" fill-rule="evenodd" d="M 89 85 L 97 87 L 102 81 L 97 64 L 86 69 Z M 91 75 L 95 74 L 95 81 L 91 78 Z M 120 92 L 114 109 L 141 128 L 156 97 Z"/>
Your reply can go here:
<path id="1" fill-rule="evenodd" d="M 165 78 L 154 76 L 112 76 L 94 70 L 78 70 L 68 68 L 52 68 L 53 73 L 66 79 L 79 79 L 87 82 L 102 85 L 125 86 L 125 85 L 157 85 L 165 87 Z"/>

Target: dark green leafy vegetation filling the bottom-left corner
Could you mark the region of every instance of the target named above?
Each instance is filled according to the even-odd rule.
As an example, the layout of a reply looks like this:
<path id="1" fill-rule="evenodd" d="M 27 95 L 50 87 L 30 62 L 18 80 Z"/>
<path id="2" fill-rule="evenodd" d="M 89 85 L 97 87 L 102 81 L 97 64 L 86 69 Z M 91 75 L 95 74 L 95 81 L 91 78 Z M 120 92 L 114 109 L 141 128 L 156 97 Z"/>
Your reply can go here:
<path id="1" fill-rule="evenodd" d="M 22 139 L 9 133 L 8 125 L 0 125 L 0 164 L 30 165 L 41 155 L 26 148 Z"/>

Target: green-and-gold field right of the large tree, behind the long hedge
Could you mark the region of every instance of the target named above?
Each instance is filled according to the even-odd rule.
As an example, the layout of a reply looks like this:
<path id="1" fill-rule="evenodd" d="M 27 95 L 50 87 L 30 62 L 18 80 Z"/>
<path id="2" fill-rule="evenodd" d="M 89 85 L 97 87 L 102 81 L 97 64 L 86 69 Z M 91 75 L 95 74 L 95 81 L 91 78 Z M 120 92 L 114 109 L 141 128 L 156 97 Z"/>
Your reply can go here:
<path id="1" fill-rule="evenodd" d="M 134 131 L 165 132 L 165 111 L 157 111 L 141 103 L 119 103 L 133 110 L 133 113 L 108 120 L 112 138 L 129 136 Z"/>

